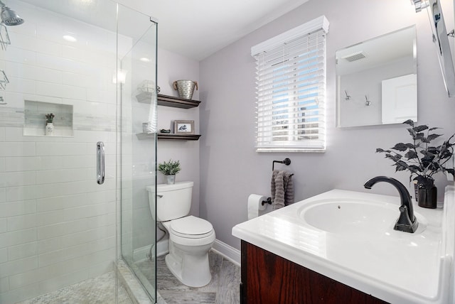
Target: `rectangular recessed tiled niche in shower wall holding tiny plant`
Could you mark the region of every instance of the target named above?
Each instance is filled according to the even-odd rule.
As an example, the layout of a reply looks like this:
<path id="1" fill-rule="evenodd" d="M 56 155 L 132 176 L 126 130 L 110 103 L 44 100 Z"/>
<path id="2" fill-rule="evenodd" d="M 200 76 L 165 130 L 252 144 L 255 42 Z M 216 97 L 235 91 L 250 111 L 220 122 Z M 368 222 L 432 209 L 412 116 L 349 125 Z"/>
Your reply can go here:
<path id="1" fill-rule="evenodd" d="M 52 136 L 73 137 L 73 106 L 49 102 L 24 102 L 24 136 L 45 136 L 45 114 L 52 113 L 54 131 Z"/>

